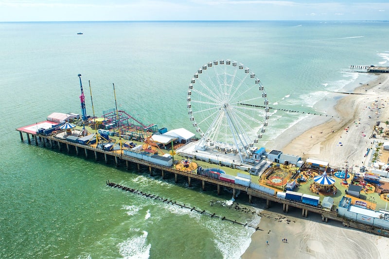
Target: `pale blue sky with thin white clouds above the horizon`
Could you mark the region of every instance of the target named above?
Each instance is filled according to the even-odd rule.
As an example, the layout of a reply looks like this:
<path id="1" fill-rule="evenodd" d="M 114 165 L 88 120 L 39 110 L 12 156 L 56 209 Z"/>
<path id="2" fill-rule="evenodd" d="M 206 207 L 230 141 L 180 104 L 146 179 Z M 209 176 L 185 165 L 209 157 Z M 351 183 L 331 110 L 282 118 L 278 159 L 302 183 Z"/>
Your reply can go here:
<path id="1" fill-rule="evenodd" d="M 0 21 L 389 20 L 389 0 L 0 0 Z"/>

